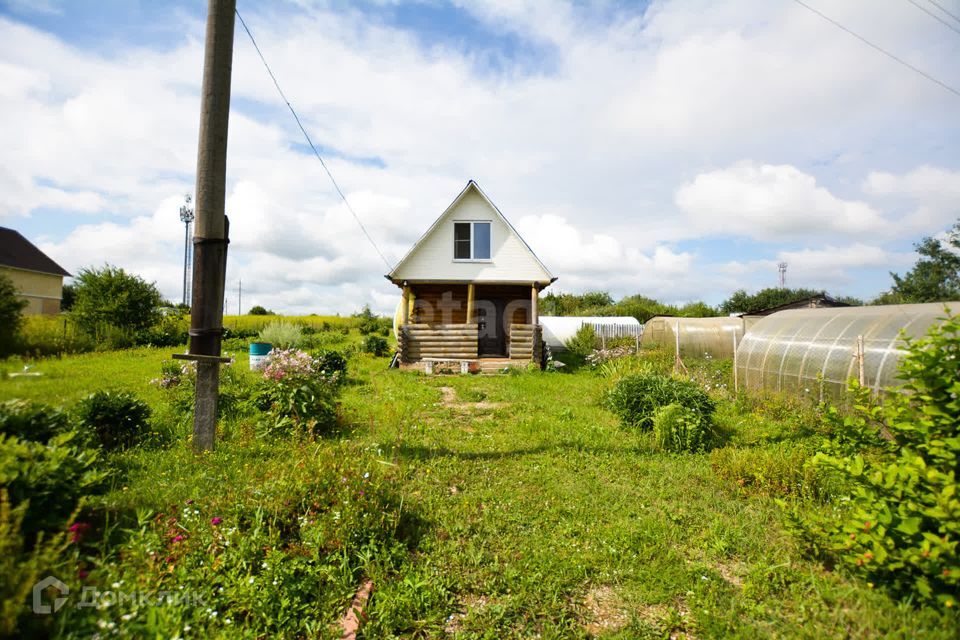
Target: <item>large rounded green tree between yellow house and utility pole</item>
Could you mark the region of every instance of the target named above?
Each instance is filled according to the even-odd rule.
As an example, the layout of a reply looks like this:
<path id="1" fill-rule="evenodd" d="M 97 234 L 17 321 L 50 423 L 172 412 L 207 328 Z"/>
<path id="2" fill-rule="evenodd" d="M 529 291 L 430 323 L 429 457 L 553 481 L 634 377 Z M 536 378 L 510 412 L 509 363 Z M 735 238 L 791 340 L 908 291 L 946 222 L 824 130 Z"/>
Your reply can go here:
<path id="1" fill-rule="evenodd" d="M 81 269 L 71 316 L 82 329 L 99 334 L 104 326 L 138 331 L 160 319 L 162 298 L 156 285 L 110 265 Z"/>

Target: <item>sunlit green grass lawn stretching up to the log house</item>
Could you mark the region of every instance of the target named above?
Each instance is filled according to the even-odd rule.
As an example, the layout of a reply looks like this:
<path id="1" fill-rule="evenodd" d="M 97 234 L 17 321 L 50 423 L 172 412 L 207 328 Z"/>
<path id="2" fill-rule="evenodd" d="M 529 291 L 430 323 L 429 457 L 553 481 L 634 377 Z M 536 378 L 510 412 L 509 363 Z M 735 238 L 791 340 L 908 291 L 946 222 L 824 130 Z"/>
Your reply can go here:
<path id="1" fill-rule="evenodd" d="M 149 380 L 172 351 L 43 360 L 33 367 L 40 378 L 0 380 L 0 399 L 69 405 L 121 386 L 153 404 L 160 392 Z M 806 559 L 781 507 L 719 479 L 709 455 L 654 452 L 645 434 L 599 406 L 607 378 L 425 377 L 386 363 L 352 358 L 342 432 L 285 454 L 357 456 L 389 470 L 391 489 L 418 523 L 402 562 L 383 571 L 368 565 L 374 592 L 364 637 L 957 635 L 954 618 Z M 739 413 L 720 402 L 718 415 L 742 446 L 789 437 L 795 424 L 794 416 Z M 267 456 L 258 447 L 232 430 L 216 455 L 256 463 Z M 217 491 L 221 482 L 183 444 L 124 456 L 131 471 L 106 503 L 162 508 L 176 493 L 166 483 Z M 318 619 L 336 620 L 350 595 L 325 599 L 331 610 Z"/>

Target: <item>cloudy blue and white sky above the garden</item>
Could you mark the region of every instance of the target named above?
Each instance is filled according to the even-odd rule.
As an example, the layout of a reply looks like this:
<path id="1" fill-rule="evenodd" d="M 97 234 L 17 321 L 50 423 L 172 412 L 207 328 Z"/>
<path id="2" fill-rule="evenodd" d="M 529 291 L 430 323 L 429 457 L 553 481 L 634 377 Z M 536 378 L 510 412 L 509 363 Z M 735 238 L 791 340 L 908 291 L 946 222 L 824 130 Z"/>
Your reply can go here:
<path id="1" fill-rule="evenodd" d="M 805 0 L 960 90 L 929 0 Z M 938 0 L 960 16 L 960 0 Z M 960 96 L 793 0 L 239 0 L 395 264 L 476 180 L 556 292 L 871 298 L 960 218 Z M 206 3 L 0 0 L 0 226 L 182 295 Z M 952 28 L 951 28 L 952 27 Z M 391 312 L 397 288 L 237 23 L 228 310 Z"/>

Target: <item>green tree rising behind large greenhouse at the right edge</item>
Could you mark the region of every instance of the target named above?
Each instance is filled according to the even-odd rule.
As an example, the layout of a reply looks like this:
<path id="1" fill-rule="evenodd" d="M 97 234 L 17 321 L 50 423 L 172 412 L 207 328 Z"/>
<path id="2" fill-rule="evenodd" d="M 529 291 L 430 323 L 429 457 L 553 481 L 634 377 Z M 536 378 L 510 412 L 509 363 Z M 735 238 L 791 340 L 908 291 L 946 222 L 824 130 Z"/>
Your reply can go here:
<path id="1" fill-rule="evenodd" d="M 914 245 L 920 259 L 902 276 L 891 273 L 893 287 L 875 304 L 944 302 L 960 299 L 960 219 L 944 239 L 926 237 Z"/>

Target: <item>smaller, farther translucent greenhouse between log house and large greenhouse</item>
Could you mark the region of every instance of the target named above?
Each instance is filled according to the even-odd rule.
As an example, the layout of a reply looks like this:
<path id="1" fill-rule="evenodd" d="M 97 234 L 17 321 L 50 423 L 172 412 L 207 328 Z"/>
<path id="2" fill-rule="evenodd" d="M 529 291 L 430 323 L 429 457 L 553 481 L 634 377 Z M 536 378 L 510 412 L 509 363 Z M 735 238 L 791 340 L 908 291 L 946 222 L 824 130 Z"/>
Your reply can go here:
<path id="1" fill-rule="evenodd" d="M 732 358 L 733 340 L 739 343 L 752 319 L 674 318 L 655 316 L 643 327 L 641 345 L 659 346 L 673 351 L 676 348 L 677 328 L 680 329 L 680 355 L 694 358 Z"/>

